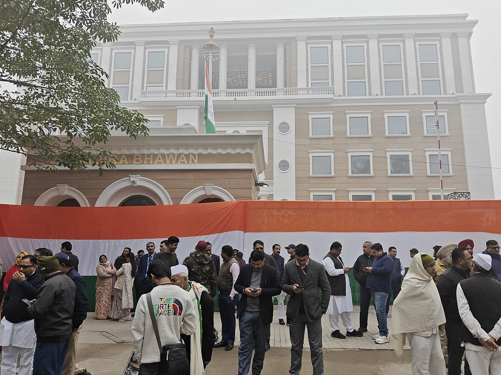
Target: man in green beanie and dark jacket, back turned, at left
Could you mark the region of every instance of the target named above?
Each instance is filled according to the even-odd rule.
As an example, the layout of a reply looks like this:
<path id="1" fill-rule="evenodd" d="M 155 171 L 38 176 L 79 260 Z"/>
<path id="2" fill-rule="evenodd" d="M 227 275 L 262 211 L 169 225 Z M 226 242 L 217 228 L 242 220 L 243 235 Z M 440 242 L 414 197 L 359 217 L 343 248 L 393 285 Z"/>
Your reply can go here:
<path id="1" fill-rule="evenodd" d="M 59 265 L 58 254 L 40 256 L 38 270 L 45 282 L 32 300 L 28 312 L 35 319 L 37 345 L 33 375 L 61 375 L 73 333 L 76 285 Z"/>

